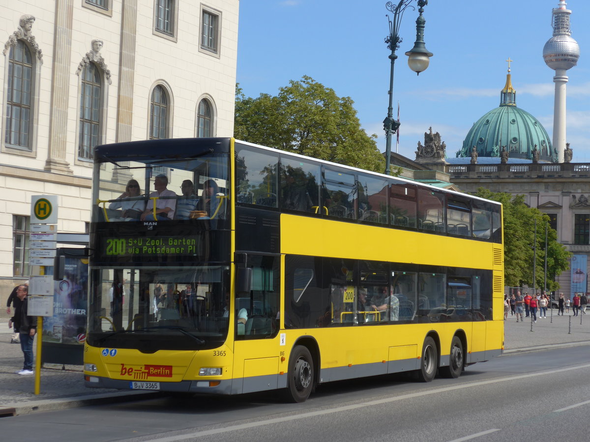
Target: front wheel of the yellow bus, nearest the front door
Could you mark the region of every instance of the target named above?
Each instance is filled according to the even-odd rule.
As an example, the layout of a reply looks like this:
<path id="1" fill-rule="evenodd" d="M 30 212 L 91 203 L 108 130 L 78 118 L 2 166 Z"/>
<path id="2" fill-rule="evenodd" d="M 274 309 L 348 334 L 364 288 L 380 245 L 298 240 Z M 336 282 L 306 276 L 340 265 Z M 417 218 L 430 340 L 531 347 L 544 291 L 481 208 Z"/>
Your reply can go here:
<path id="1" fill-rule="evenodd" d="M 304 402 L 315 390 L 319 374 L 319 347 L 313 338 L 301 338 L 291 348 L 285 398 Z"/>

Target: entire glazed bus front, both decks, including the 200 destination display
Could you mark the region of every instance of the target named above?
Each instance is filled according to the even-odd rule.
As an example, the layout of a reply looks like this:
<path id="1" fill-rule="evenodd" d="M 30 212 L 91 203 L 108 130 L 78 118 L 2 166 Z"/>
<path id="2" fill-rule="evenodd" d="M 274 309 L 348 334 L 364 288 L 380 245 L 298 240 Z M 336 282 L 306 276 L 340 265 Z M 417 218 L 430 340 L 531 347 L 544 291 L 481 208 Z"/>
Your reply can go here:
<path id="1" fill-rule="evenodd" d="M 90 345 L 149 353 L 227 337 L 229 140 L 167 143 L 96 148 Z"/>

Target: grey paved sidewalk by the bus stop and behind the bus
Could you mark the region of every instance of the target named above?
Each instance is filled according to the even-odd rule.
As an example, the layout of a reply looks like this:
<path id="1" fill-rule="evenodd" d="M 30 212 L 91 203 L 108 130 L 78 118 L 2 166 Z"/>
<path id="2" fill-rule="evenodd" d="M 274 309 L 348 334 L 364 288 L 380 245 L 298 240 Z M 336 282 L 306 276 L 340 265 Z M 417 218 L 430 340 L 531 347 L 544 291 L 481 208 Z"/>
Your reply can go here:
<path id="1" fill-rule="evenodd" d="M 553 323 L 549 315 L 547 319 L 537 319 L 537 323 L 533 324 L 533 332 L 530 331 L 529 318 L 525 318 L 525 322 L 516 322 L 516 316 L 509 315 L 504 324 L 504 355 L 554 346 L 590 344 L 590 314 L 571 317 L 571 334 L 568 334 L 567 315 L 554 315 Z M 61 364 L 44 364 L 41 369 L 40 394 L 35 395 L 35 376 L 15 374 L 22 368 L 21 346 L 9 342 L 8 323 L 0 321 L 0 417 L 80 407 L 101 401 L 112 403 L 136 400 L 159 394 L 86 388 L 80 365 L 65 365 L 65 370 L 62 370 Z M 35 338 L 35 348 L 36 344 Z"/>

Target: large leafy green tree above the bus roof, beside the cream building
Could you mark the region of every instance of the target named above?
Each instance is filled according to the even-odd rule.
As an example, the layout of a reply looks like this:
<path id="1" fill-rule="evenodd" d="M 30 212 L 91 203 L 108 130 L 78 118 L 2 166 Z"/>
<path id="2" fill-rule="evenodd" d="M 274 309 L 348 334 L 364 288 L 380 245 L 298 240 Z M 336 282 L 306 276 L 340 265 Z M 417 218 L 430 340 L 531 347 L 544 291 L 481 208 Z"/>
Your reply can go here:
<path id="1" fill-rule="evenodd" d="M 377 136 L 360 127 L 350 97 L 304 76 L 281 87 L 277 95 L 245 97 L 235 93 L 234 136 L 322 160 L 372 171 L 385 170 Z M 396 171 L 395 167 L 392 170 Z"/>

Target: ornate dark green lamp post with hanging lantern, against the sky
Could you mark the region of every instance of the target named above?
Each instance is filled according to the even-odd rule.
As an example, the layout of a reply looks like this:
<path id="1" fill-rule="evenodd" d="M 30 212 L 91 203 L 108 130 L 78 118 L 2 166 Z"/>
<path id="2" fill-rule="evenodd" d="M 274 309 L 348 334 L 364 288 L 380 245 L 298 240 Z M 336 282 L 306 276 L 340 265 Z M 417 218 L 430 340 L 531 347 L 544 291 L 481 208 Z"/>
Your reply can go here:
<path id="1" fill-rule="evenodd" d="M 397 5 L 394 2 L 387 2 L 385 4 L 385 8 L 389 12 L 394 14 L 393 19 L 389 18 L 389 15 L 386 15 L 389 21 L 389 35 L 385 37 L 385 43 L 387 44 L 387 48 L 391 50 L 391 54 L 389 54 L 389 60 L 391 60 L 391 71 L 389 74 L 389 107 L 387 108 L 387 117 L 383 120 L 383 130 L 385 130 L 385 174 L 389 175 L 389 163 L 391 161 L 391 136 L 396 133 L 399 128 L 399 121 L 394 119 L 394 66 L 395 60 L 398 56 L 395 54 L 395 51 L 399 48 L 399 44 L 401 43 L 402 39 L 399 38 L 399 24 L 401 22 L 402 16 L 404 15 L 404 11 L 408 6 L 411 6 L 411 3 L 414 0 L 401 0 Z M 425 45 L 424 45 L 424 24 L 426 20 L 422 17 L 422 12 L 424 12 L 424 6 L 428 5 L 428 0 L 418 0 L 418 18 L 416 19 L 416 41 L 414 42 L 414 47 L 405 53 L 408 55 L 408 65 L 409 68 L 417 72 L 426 70 L 428 67 L 428 63 L 430 62 L 430 57 L 432 57 L 432 52 L 428 52 Z M 415 9 L 414 6 L 411 6 L 412 9 Z"/>

